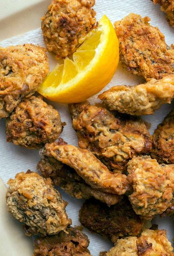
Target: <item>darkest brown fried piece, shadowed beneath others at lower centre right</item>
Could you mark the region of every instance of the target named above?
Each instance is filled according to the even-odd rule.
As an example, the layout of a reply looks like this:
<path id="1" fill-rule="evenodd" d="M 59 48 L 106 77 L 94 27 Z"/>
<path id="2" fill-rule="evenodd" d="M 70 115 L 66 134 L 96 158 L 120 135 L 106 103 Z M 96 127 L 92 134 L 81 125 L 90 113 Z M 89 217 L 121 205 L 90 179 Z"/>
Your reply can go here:
<path id="1" fill-rule="evenodd" d="M 80 209 L 79 220 L 84 227 L 108 237 L 113 243 L 120 237 L 137 236 L 145 222 L 134 212 L 128 198 L 111 207 L 88 200 Z"/>

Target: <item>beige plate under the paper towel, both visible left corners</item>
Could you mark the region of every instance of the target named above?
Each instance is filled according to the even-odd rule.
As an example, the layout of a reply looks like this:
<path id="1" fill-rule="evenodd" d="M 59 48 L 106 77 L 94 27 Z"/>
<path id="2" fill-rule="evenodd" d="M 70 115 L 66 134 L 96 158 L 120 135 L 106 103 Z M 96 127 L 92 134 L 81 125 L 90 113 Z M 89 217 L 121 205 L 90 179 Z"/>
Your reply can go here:
<path id="1" fill-rule="evenodd" d="M 0 41 L 39 28 L 38 12 L 46 12 L 49 3 L 50 0 L 0 0 Z M 24 236 L 22 224 L 7 212 L 5 194 L 6 186 L 0 179 L 0 255 L 31 256 L 32 238 Z"/>

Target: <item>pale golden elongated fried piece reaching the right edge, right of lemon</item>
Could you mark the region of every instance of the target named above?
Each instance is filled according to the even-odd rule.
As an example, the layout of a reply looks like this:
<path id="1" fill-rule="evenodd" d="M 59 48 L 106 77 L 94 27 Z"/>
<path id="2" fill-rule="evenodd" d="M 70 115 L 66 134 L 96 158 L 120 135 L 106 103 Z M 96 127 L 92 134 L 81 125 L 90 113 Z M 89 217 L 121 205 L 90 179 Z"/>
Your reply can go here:
<path id="1" fill-rule="evenodd" d="M 174 98 L 174 75 L 151 79 L 136 86 L 114 86 L 98 96 L 109 110 L 131 115 L 149 115 Z"/>

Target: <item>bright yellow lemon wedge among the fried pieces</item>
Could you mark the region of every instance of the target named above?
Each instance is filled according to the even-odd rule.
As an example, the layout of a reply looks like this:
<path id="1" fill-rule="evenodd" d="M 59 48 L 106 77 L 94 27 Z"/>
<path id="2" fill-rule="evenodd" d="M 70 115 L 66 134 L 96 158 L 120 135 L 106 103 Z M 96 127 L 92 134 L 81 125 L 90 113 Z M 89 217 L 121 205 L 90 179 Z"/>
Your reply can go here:
<path id="1" fill-rule="evenodd" d="M 65 58 L 48 74 L 38 92 L 55 102 L 82 102 L 111 81 L 118 61 L 118 38 L 104 15 L 72 58 Z"/>

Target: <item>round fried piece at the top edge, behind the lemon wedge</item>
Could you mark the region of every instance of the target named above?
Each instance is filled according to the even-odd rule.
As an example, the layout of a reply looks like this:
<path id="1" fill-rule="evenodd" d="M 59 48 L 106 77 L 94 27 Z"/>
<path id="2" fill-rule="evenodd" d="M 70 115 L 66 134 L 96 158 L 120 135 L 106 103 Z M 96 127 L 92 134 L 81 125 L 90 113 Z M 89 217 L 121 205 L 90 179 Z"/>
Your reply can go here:
<path id="1" fill-rule="evenodd" d="M 52 0 L 42 17 L 42 32 L 48 51 L 57 59 L 71 55 L 94 28 L 95 0 Z"/>

